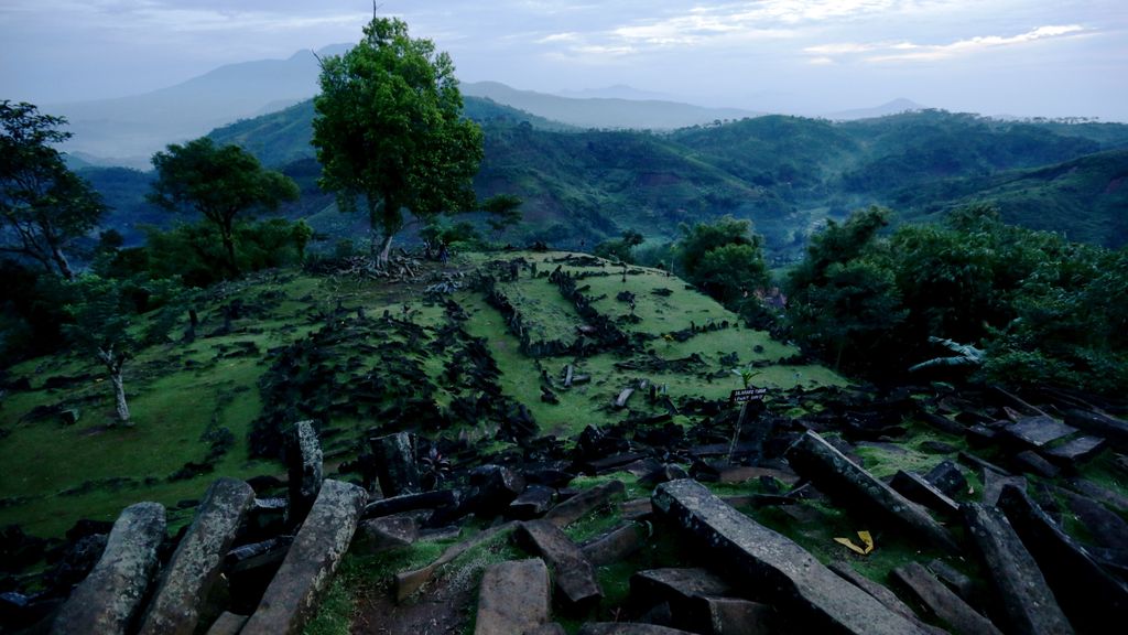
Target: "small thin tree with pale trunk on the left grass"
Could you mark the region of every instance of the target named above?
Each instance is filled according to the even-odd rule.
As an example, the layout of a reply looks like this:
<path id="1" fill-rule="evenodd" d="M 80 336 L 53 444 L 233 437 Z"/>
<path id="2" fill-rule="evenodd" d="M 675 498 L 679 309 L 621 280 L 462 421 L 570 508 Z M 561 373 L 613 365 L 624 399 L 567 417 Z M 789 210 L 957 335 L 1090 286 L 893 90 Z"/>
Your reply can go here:
<path id="1" fill-rule="evenodd" d="M 74 323 L 68 324 L 64 332 L 76 347 L 91 354 L 106 368 L 114 386 L 117 420 L 129 425 L 122 368 L 136 346 L 130 333 L 134 305 L 117 280 L 88 275 L 74 279 L 69 287 L 74 302 L 67 308 Z"/>

